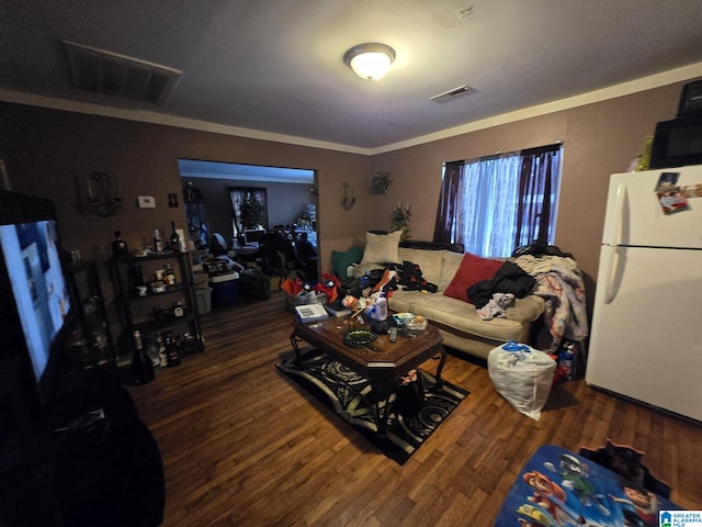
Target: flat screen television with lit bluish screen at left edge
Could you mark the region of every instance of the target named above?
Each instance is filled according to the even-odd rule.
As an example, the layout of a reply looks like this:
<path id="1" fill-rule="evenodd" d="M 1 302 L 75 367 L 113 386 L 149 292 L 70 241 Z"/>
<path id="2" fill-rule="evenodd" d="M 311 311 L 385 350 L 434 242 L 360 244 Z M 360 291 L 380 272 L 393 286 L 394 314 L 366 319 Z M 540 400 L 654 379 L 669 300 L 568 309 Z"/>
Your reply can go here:
<path id="1" fill-rule="evenodd" d="M 39 402 L 53 390 L 70 295 L 52 201 L 0 191 L 0 357 L 29 358 Z"/>

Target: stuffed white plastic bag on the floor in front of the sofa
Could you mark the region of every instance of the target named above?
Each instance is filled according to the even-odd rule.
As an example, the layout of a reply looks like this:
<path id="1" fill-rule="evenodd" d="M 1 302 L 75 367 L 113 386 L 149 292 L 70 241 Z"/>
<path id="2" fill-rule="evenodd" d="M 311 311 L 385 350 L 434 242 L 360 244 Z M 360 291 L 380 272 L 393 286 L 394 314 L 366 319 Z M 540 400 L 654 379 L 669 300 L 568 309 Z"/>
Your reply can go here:
<path id="1" fill-rule="evenodd" d="M 539 421 L 546 404 L 556 361 L 548 354 L 513 340 L 490 350 L 487 371 L 497 393 L 514 410 Z"/>

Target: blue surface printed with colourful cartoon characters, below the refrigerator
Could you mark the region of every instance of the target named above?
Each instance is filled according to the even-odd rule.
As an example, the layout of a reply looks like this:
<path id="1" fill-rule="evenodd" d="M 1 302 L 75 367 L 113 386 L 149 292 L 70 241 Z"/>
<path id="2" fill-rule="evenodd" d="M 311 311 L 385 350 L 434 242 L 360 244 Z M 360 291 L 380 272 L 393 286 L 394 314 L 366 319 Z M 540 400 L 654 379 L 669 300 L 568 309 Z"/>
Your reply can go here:
<path id="1" fill-rule="evenodd" d="M 544 445 L 510 489 L 495 526 L 657 527 L 659 509 L 680 508 L 569 450 Z"/>

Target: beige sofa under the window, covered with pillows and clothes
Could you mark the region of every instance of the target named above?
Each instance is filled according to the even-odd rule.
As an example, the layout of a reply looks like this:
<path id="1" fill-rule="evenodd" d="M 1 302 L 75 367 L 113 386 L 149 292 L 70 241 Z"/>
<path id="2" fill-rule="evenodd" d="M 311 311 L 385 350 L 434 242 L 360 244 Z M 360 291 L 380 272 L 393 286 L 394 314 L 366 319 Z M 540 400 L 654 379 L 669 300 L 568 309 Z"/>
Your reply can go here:
<path id="1" fill-rule="evenodd" d="M 435 293 L 422 291 L 394 291 L 389 306 L 395 312 L 410 312 L 427 317 L 444 338 L 444 345 L 487 359 L 488 352 L 508 340 L 529 343 L 532 324 L 544 311 L 541 296 L 528 295 L 517 299 L 506 310 L 507 318 L 484 321 L 473 304 L 445 296 L 443 291 L 453 279 L 463 251 L 440 248 L 430 243 L 415 242 L 410 247 L 399 247 L 399 260 L 417 264 L 422 277 L 438 285 Z M 458 251 L 456 251 L 456 248 Z M 382 266 L 362 264 L 353 267 L 353 276 L 361 277 L 370 268 Z"/>

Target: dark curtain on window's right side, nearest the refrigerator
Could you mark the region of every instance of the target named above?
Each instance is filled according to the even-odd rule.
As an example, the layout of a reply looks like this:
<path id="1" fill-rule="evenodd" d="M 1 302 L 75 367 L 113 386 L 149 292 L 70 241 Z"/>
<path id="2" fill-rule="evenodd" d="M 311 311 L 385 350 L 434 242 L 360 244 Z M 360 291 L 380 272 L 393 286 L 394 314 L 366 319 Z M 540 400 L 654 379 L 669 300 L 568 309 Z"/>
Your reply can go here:
<path id="1" fill-rule="evenodd" d="M 561 145 L 522 150 L 514 247 L 548 243 L 553 191 L 561 164 Z"/>

